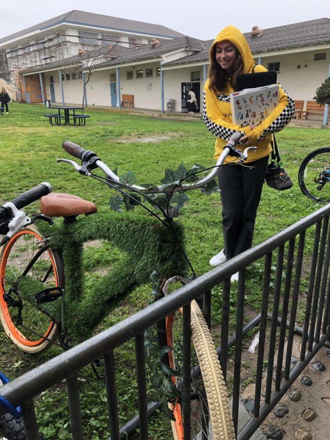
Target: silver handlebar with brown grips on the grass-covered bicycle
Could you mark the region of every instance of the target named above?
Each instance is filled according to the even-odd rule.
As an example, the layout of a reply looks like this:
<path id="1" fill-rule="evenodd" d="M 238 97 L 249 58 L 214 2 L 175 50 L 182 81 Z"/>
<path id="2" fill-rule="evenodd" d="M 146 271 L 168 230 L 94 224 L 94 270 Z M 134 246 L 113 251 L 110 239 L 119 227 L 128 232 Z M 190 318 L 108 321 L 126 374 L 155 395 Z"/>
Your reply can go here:
<path id="1" fill-rule="evenodd" d="M 245 150 L 242 151 L 241 150 L 237 150 L 235 148 L 235 146 L 240 142 L 240 139 L 242 137 L 241 132 L 235 132 L 229 139 L 228 142 L 226 143 L 226 145 L 223 148 L 223 152 L 220 154 L 219 159 L 216 163 L 216 166 L 214 167 L 214 169 L 204 178 L 198 180 L 197 182 L 191 183 L 191 184 L 180 184 L 177 185 L 175 187 L 175 189 L 173 189 L 172 187 L 168 187 L 168 188 L 162 188 L 160 190 L 160 187 L 152 187 L 149 188 L 147 190 L 148 194 L 152 194 L 152 193 L 169 193 L 169 192 L 179 192 L 179 191 L 189 191 L 191 189 L 197 189 L 200 188 L 201 186 L 204 186 L 206 183 L 210 182 L 211 180 L 213 180 L 219 170 L 219 166 L 223 165 L 225 158 L 227 157 L 227 155 L 231 155 L 234 157 L 238 157 L 240 162 L 243 162 L 246 160 L 247 158 L 247 154 L 249 150 L 256 150 L 256 147 L 248 147 L 245 148 Z M 116 176 L 108 167 L 108 165 L 106 165 L 104 162 L 102 162 L 95 153 L 93 153 L 90 150 L 85 150 L 84 148 L 81 148 L 79 145 L 74 144 L 73 142 L 70 141 L 65 141 L 62 144 L 62 147 L 66 150 L 67 153 L 71 154 L 74 157 L 77 157 L 79 159 L 82 159 L 83 162 L 87 162 L 90 158 L 93 157 L 93 163 L 95 164 L 96 167 L 100 168 L 101 171 L 103 171 L 103 173 L 113 182 L 115 183 L 119 183 L 119 177 Z M 68 160 L 68 159 L 57 159 L 57 162 L 66 162 L 69 163 L 70 165 L 72 165 L 78 172 L 80 172 L 81 174 L 85 174 L 85 175 L 90 175 L 88 174 L 88 172 L 86 172 L 86 168 L 84 170 L 82 170 L 82 166 L 80 167 L 76 162 L 74 162 L 73 160 Z M 143 188 L 141 186 L 136 186 L 136 185 L 132 185 L 131 186 L 132 189 L 134 190 L 138 190 L 138 191 L 146 191 L 146 188 Z"/>

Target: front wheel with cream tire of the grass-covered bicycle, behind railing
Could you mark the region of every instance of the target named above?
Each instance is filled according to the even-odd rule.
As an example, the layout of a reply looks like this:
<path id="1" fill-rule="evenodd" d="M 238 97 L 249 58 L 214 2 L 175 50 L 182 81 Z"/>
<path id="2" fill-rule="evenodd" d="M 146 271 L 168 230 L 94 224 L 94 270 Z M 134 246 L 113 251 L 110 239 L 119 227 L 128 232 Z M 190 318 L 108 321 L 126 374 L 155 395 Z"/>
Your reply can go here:
<path id="1" fill-rule="evenodd" d="M 182 323 L 180 321 L 182 321 L 180 310 L 165 318 L 167 344 L 172 348 L 169 352 L 169 364 L 176 371 L 180 370 L 182 354 L 182 334 L 180 334 Z M 206 436 L 207 439 L 212 440 L 235 440 L 228 394 L 219 358 L 211 332 L 196 301 L 191 303 L 191 338 L 194 347 L 192 366 L 199 365 L 201 372 L 201 377 L 198 375 L 191 381 L 191 396 L 194 396 L 194 400 L 191 401 L 191 439 L 204 439 Z M 180 382 L 177 376 L 172 377 L 172 381 L 176 386 Z M 175 440 L 182 440 L 183 403 L 179 398 L 177 402 L 169 403 L 169 406 L 176 418 L 172 421 L 173 437 Z M 201 432 L 204 437 L 201 437 Z"/>

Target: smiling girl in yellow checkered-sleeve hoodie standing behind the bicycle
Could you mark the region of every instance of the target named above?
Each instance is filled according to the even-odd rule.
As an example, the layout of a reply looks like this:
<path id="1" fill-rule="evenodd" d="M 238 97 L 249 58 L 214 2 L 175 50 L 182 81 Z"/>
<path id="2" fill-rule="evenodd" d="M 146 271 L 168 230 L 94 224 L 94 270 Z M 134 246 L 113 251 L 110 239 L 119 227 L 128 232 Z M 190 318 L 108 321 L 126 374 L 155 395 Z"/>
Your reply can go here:
<path id="1" fill-rule="evenodd" d="M 225 27 L 210 48 L 210 67 L 203 92 L 203 120 L 216 138 L 214 157 L 218 159 L 229 137 L 242 133 L 240 145 L 257 147 L 249 152 L 249 166 L 228 164 L 219 169 L 222 202 L 224 249 L 211 258 L 217 266 L 235 257 L 252 245 L 254 223 L 261 198 L 264 176 L 271 151 L 272 133 L 282 130 L 294 113 L 294 102 L 279 84 L 279 103 L 257 127 L 240 127 L 232 122 L 229 94 L 234 91 L 236 78 L 242 73 L 263 72 L 255 66 L 251 50 L 242 32 L 234 26 Z M 234 158 L 228 156 L 226 162 Z M 238 279 L 237 274 L 232 281 Z"/>

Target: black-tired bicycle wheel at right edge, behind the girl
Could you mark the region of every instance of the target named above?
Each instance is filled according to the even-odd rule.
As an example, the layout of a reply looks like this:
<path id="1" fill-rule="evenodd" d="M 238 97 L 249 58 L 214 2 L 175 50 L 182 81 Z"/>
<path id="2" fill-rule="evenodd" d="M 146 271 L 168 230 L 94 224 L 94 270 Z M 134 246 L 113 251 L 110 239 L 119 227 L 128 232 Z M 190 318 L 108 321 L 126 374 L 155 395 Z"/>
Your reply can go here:
<path id="1" fill-rule="evenodd" d="M 330 201 L 330 147 L 322 147 L 309 153 L 302 161 L 298 182 L 305 196 L 317 202 Z"/>

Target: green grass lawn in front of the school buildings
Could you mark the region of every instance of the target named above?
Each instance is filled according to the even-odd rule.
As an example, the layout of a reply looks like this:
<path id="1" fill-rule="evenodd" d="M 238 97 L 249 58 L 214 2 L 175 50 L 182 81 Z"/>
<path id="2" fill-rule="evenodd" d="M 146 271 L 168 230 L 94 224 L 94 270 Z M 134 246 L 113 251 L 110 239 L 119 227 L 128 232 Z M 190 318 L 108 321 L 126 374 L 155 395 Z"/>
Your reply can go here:
<path id="1" fill-rule="evenodd" d="M 43 106 L 10 103 L 9 115 L 0 116 L 0 201 L 8 201 L 30 187 L 48 181 L 54 192 L 67 192 L 93 200 L 98 210 L 108 210 L 110 190 L 99 182 L 74 172 L 66 164 L 57 164 L 56 158 L 71 159 L 62 148 L 62 142 L 70 140 L 85 149 L 93 150 L 118 175 L 133 171 L 137 184 L 160 184 L 167 168 L 176 169 L 183 162 L 186 168 L 194 164 L 205 167 L 214 164 L 214 137 L 202 121 L 182 121 L 144 115 L 132 115 L 115 110 L 88 108 L 85 127 L 51 126 L 43 114 Z M 256 220 L 254 243 L 271 237 L 286 226 L 302 219 L 320 207 L 305 197 L 298 185 L 298 169 L 303 158 L 312 150 L 329 145 L 329 131 L 321 129 L 286 128 L 277 135 L 278 147 L 285 168 L 293 181 L 293 187 L 278 192 L 264 185 L 262 200 Z M 31 213 L 38 203 L 31 205 Z M 142 208 L 137 208 L 142 212 Z M 121 214 L 118 213 L 118 216 Z M 146 215 L 148 215 L 146 213 Z M 212 255 L 222 248 L 221 205 L 219 194 L 209 197 L 200 191 L 189 193 L 189 202 L 181 209 L 179 218 L 185 228 L 186 252 L 198 275 L 210 269 Z M 307 234 L 307 252 L 311 251 L 313 233 Z M 104 250 L 87 249 L 86 273 L 95 269 L 96 263 L 109 261 Z M 102 254 L 103 253 L 103 254 Z M 102 258 L 104 255 L 104 258 Z M 308 256 L 307 256 L 308 257 Z M 95 266 L 95 267 L 94 267 Z M 249 308 L 258 310 L 261 304 L 258 264 L 248 275 Z M 306 280 L 307 282 L 307 280 Z M 151 284 L 136 288 L 129 297 L 120 302 L 102 328 L 144 307 L 150 301 Z M 214 290 L 213 320 L 219 323 L 221 307 L 220 287 Z M 233 318 L 235 318 L 233 314 Z M 299 317 L 298 317 L 299 318 Z M 27 355 L 6 339 L 0 330 L 0 370 L 10 378 L 30 370 L 52 356 L 60 353 L 52 347 L 38 355 Z M 125 423 L 136 412 L 136 385 L 134 376 L 133 344 L 128 343 L 116 351 L 118 365 L 119 417 Z M 104 439 L 108 433 L 106 392 L 104 384 L 95 379 L 91 369 L 80 374 L 82 412 L 86 420 L 85 438 Z M 63 384 L 64 386 L 64 384 Z M 38 400 L 37 418 L 46 439 L 69 439 L 67 403 L 62 387 L 46 391 Z M 55 412 L 57 408 L 58 412 Z M 163 417 L 151 422 L 151 439 L 167 440 L 169 422 Z"/>

